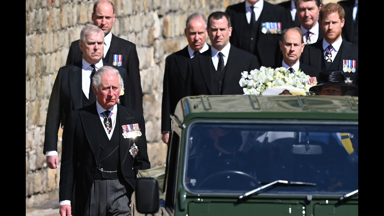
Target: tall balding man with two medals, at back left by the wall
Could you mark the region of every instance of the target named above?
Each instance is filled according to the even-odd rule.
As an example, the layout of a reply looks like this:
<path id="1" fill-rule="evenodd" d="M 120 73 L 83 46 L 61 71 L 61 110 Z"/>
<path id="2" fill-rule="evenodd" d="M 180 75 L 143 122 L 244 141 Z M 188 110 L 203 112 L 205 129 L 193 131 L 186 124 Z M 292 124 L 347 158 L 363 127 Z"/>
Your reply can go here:
<path id="1" fill-rule="evenodd" d="M 98 26 L 104 32 L 103 59 L 110 64 L 125 68 L 128 72 L 129 83 L 124 88 L 126 88 L 126 91 L 132 91 L 132 104 L 129 105 L 129 108 L 142 114 L 142 88 L 136 45 L 116 37 L 112 33 L 111 30 L 115 22 L 114 12 L 114 5 L 111 1 L 96 1 L 92 13 L 93 25 Z M 72 42 L 66 64 L 81 61 L 82 55 L 79 40 Z"/>

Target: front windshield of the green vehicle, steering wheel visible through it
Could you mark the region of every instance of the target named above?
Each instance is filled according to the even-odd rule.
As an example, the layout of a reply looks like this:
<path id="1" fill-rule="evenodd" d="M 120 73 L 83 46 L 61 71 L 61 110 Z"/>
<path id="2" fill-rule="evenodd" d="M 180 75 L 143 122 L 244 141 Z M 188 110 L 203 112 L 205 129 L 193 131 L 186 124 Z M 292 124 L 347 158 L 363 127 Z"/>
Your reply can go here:
<path id="1" fill-rule="evenodd" d="M 344 194 L 358 189 L 358 125 L 205 123 L 187 128 L 184 185 L 191 193 Z"/>

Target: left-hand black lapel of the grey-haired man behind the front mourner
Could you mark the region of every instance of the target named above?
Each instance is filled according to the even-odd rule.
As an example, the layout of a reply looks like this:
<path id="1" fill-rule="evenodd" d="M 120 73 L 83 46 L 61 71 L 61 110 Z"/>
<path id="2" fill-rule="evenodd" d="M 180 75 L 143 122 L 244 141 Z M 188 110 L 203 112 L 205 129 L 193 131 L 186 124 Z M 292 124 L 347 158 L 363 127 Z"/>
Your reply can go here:
<path id="1" fill-rule="evenodd" d="M 78 62 L 74 64 L 73 70 L 70 70 L 68 72 L 68 85 L 73 104 L 72 108 L 74 110 L 83 107 L 83 87 L 81 84 L 81 70 L 82 64 L 81 62 Z"/>

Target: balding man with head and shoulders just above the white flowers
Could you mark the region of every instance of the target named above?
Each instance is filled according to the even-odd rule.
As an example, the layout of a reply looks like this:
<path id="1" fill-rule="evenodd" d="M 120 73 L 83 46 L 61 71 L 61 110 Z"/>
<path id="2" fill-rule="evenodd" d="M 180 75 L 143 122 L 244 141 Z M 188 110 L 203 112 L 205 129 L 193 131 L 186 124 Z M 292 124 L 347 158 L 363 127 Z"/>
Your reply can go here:
<path id="1" fill-rule="evenodd" d="M 283 54 L 283 61 L 278 67 L 285 67 L 294 73 L 298 70 L 311 77 L 318 76 L 320 69 L 305 65 L 300 62 L 300 56 L 305 47 L 303 32 L 299 27 L 286 28 L 281 34 L 280 49 Z"/>

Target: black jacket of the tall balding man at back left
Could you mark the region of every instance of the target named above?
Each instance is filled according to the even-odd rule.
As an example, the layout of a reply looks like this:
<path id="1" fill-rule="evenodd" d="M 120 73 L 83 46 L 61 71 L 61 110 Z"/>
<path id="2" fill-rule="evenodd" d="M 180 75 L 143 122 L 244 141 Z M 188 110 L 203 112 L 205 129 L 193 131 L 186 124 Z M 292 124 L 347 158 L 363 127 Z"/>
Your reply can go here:
<path id="1" fill-rule="evenodd" d="M 124 84 L 125 91 L 132 91 L 133 110 L 143 113 L 142 105 L 142 88 L 139 70 L 139 58 L 137 57 L 136 45 L 132 42 L 116 37 L 112 34 L 111 45 L 104 60 L 109 64 L 113 64 L 113 55 L 122 55 L 122 68 L 128 72 L 129 83 Z M 71 43 L 70 51 L 68 52 L 66 65 L 83 59 L 83 52 L 80 50 L 79 40 Z"/>

